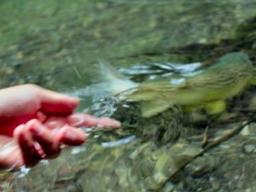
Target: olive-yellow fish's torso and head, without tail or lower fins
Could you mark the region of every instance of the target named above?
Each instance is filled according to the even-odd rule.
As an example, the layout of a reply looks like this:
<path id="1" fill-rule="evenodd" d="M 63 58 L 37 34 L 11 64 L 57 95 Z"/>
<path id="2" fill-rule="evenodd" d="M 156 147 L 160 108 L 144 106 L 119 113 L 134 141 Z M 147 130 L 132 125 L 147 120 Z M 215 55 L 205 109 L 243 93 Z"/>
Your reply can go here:
<path id="1" fill-rule="evenodd" d="M 235 96 L 253 79 L 253 65 L 248 56 L 236 52 L 173 84 L 170 78 L 149 80 L 139 84 L 127 97 L 137 102 L 163 101 L 180 105 L 197 105 Z"/>

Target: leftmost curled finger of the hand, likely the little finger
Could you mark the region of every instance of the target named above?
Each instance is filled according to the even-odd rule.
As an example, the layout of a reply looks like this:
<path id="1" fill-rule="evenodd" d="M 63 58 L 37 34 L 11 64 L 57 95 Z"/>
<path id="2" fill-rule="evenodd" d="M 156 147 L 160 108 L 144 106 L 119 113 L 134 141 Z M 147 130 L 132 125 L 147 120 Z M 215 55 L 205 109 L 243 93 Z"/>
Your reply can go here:
<path id="1" fill-rule="evenodd" d="M 23 159 L 23 164 L 26 166 L 34 166 L 41 160 L 41 156 L 34 147 L 32 135 L 26 130 L 25 125 L 16 127 L 14 137 L 20 146 L 20 152 Z"/>

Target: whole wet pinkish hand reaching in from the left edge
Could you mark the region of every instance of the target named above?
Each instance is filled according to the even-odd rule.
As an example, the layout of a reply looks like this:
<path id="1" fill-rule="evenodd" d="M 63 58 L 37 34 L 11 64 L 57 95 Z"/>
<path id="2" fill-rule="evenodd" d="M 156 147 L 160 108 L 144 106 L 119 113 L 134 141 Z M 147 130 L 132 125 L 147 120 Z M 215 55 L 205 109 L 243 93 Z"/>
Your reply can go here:
<path id="1" fill-rule="evenodd" d="M 113 119 L 74 113 L 79 99 L 24 84 L 0 90 L 0 170 L 19 170 L 54 158 L 63 146 L 86 140 L 78 127 L 110 126 Z"/>

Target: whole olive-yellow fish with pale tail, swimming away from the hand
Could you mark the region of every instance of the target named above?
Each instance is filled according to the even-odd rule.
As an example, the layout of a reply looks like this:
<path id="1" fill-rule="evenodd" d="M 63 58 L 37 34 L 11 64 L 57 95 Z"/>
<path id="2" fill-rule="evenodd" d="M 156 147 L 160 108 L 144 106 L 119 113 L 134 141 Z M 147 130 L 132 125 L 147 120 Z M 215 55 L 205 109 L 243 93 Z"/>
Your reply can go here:
<path id="1" fill-rule="evenodd" d="M 256 84 L 253 63 L 243 52 L 223 55 L 211 67 L 180 79 L 159 77 L 135 83 L 110 64 L 102 62 L 101 67 L 113 95 L 139 102 L 145 118 L 174 105 L 186 109 L 203 106 L 209 114 L 221 113 L 225 110 L 226 99 L 236 96 L 248 85 Z"/>

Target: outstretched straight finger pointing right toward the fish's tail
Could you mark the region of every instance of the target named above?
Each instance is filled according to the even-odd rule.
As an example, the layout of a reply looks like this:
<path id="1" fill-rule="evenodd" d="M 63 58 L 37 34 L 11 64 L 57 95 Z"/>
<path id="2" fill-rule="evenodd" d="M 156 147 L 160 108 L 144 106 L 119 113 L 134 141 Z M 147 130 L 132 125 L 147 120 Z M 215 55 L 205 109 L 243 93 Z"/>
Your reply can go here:
<path id="1" fill-rule="evenodd" d="M 103 127 L 110 126 L 113 128 L 119 128 L 121 126 L 120 122 L 109 118 L 96 118 L 90 114 L 84 113 L 73 113 L 67 117 L 68 125 L 75 127 L 88 126 L 88 127 Z"/>

